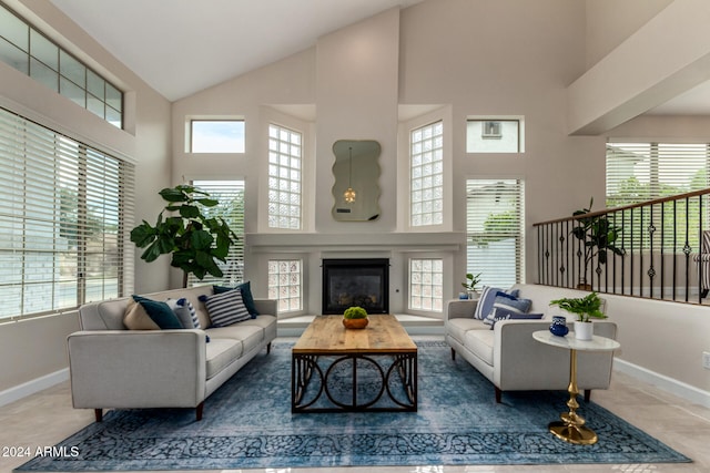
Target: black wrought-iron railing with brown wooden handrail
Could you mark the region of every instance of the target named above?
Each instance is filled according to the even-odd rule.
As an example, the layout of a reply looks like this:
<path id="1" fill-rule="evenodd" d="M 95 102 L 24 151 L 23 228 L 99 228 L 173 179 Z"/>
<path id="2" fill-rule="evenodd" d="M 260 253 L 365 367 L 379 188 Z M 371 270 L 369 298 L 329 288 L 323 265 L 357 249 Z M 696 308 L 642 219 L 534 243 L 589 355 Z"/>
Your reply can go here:
<path id="1" fill-rule="evenodd" d="M 710 188 L 534 224 L 538 282 L 702 304 L 709 198 Z"/>

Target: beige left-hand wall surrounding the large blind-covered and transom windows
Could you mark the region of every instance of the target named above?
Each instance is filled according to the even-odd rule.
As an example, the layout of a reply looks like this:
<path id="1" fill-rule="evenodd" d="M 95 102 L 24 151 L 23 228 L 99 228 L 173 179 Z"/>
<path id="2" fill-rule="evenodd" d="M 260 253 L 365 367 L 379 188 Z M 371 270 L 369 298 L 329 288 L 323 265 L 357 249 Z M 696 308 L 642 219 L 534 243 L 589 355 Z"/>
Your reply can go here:
<path id="1" fill-rule="evenodd" d="M 0 63 L 0 104 L 108 153 L 134 161 L 135 216 L 138 220 L 153 220 L 162 207 L 156 192 L 170 185 L 170 103 L 51 3 L 10 1 L 9 7 L 36 24 L 51 24 L 55 34 L 52 39 L 71 48 L 74 54 L 128 91 L 126 130 L 115 128 L 4 63 Z M 135 291 L 164 289 L 166 265 L 145 265 L 138 255 L 136 251 Z M 0 359 L 12 360 L 0 372 L 0 398 L 12 387 L 64 369 L 65 339 L 78 328 L 74 313 L 0 325 Z"/>

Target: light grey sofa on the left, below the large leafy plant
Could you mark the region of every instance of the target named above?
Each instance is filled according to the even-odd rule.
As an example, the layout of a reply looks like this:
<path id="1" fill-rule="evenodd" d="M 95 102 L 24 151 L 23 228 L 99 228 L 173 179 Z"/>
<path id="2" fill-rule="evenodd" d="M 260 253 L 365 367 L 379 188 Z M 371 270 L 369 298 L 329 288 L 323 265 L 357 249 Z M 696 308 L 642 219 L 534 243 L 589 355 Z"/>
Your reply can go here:
<path id="1" fill-rule="evenodd" d="M 200 296 L 212 286 L 145 295 L 152 300 L 186 298 L 201 329 L 129 330 L 123 322 L 132 298 L 88 304 L 81 330 L 68 338 L 74 408 L 195 408 L 276 338 L 276 301 L 254 300 L 258 316 L 212 327 Z"/>

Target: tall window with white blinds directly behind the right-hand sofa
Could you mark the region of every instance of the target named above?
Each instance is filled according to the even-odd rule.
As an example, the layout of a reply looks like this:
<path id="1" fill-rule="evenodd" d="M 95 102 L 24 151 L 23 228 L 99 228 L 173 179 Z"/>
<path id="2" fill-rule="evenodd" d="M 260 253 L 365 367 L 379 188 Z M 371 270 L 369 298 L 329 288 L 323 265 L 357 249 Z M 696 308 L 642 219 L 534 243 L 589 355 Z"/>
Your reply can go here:
<path id="1" fill-rule="evenodd" d="M 466 273 L 484 285 L 524 282 L 524 195 L 521 179 L 466 181 Z"/>

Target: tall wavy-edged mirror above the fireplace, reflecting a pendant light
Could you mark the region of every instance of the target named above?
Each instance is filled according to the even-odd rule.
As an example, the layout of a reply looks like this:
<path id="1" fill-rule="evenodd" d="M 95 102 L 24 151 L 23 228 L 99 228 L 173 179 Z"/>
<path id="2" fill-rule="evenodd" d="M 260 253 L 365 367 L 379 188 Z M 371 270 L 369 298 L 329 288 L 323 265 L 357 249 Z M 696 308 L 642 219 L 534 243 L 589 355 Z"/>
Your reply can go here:
<path id="1" fill-rule="evenodd" d="M 379 143 L 338 140 L 333 144 L 333 218 L 368 222 L 379 218 Z"/>

